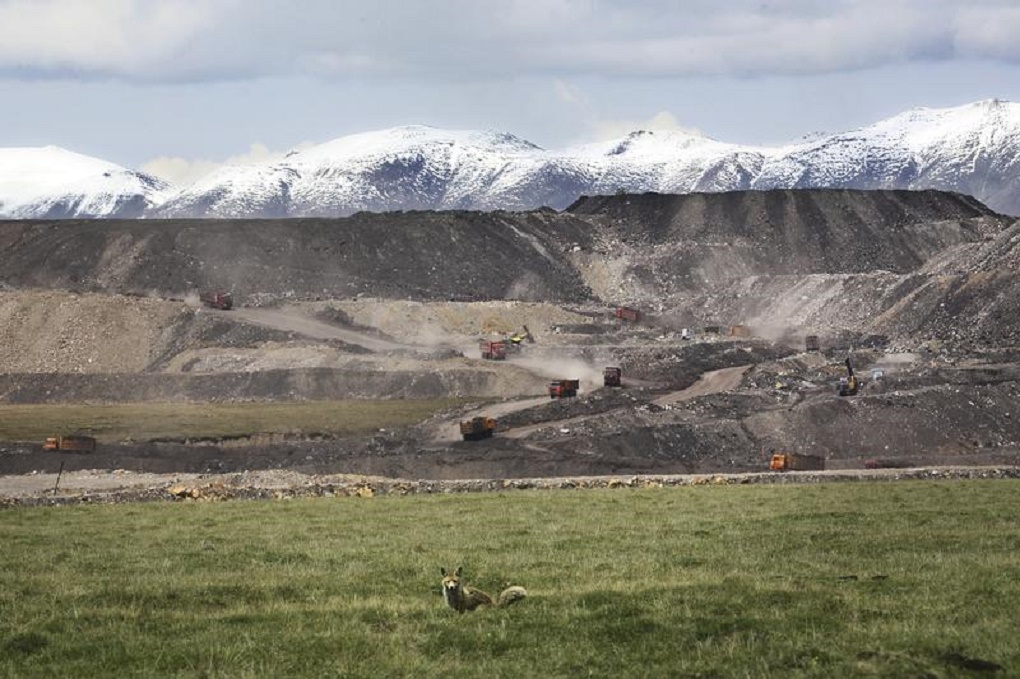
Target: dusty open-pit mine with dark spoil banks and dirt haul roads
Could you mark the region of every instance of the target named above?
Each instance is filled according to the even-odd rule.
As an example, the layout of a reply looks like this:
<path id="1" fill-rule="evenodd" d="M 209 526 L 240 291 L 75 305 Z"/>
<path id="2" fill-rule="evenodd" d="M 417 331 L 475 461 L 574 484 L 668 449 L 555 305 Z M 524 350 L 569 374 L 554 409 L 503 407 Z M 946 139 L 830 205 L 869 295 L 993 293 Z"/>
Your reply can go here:
<path id="1" fill-rule="evenodd" d="M 371 435 L 2 440 L 0 474 L 714 474 L 767 471 L 774 453 L 844 471 L 1016 465 L 1018 270 L 1020 221 L 934 191 L 0 222 L 0 412 L 457 399 Z M 551 397 L 558 380 L 576 394 Z M 473 417 L 495 429 L 465 440 Z"/>

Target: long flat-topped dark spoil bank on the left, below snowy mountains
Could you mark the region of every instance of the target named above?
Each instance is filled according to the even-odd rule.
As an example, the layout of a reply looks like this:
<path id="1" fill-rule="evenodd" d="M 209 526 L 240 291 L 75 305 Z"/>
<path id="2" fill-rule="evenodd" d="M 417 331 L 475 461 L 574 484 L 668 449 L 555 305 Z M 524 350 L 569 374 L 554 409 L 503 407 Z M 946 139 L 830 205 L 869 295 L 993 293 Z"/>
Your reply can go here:
<path id="1" fill-rule="evenodd" d="M 239 304 L 358 295 L 583 300 L 563 253 L 588 224 L 548 212 L 359 213 L 345 219 L 8 221 L 0 279 L 172 297 L 236 291 Z"/>

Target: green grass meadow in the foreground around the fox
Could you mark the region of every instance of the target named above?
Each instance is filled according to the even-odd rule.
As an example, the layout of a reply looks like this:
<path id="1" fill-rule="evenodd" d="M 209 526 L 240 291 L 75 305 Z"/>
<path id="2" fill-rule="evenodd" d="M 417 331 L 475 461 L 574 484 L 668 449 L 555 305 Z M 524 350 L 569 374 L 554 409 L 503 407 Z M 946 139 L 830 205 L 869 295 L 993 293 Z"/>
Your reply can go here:
<path id="1" fill-rule="evenodd" d="M 1020 676 L 1020 482 L 0 512 L 2 676 Z M 458 615 L 442 566 L 529 596 Z"/>

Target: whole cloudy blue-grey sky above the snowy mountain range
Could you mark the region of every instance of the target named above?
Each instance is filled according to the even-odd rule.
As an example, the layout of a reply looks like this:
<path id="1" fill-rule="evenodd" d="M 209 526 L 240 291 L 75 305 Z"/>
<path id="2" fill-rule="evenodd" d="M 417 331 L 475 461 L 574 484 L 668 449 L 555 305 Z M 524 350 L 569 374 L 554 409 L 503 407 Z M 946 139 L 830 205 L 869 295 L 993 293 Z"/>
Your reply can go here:
<path id="1" fill-rule="evenodd" d="M 779 144 L 1020 101 L 1020 0 L 0 0 L 0 147 L 173 181 L 401 124 Z"/>

